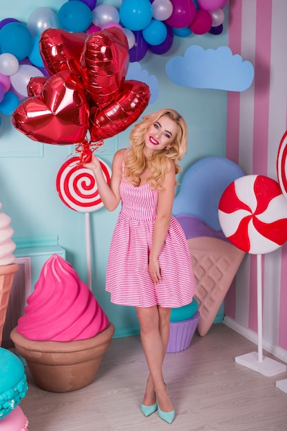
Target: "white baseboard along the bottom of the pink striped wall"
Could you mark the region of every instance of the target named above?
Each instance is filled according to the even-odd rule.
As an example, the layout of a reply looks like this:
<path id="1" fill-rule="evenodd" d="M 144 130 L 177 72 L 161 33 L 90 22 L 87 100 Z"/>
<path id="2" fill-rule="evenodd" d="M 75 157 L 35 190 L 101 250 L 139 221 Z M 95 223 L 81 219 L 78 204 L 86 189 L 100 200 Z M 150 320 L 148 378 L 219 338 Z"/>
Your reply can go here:
<path id="1" fill-rule="evenodd" d="M 258 336 L 257 333 L 255 333 L 253 330 L 244 328 L 244 326 L 238 324 L 235 322 L 235 320 L 231 319 L 231 317 L 225 316 L 223 319 L 223 323 L 228 326 L 229 328 L 235 330 L 235 332 L 239 333 L 246 339 L 252 341 L 254 344 L 258 344 Z M 287 350 L 284 350 L 281 347 L 274 346 L 273 344 L 270 344 L 268 341 L 262 340 L 262 346 L 266 352 L 271 353 L 271 355 L 274 355 L 281 361 L 284 361 L 287 363 Z"/>

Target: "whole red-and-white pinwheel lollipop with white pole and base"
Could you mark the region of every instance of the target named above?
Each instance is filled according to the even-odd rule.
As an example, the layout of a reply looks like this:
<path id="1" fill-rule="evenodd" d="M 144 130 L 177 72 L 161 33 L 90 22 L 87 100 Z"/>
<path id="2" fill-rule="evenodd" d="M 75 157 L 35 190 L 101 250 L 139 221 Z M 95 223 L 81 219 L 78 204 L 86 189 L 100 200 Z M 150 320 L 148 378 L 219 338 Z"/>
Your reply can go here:
<path id="1" fill-rule="evenodd" d="M 262 254 L 278 249 L 287 240 L 287 200 L 279 184 L 266 176 L 247 175 L 225 189 L 218 218 L 226 238 L 246 253 L 257 255 L 258 353 L 235 361 L 267 377 L 286 371 L 286 366 L 262 354 Z"/>

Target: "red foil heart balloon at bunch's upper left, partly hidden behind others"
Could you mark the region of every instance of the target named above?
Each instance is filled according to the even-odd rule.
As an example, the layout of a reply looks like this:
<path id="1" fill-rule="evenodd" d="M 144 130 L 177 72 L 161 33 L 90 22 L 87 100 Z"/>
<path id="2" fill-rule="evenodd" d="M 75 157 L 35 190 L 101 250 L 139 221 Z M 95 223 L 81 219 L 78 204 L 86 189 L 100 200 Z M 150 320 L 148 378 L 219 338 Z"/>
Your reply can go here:
<path id="1" fill-rule="evenodd" d="M 45 70 L 52 76 L 61 70 L 69 70 L 80 78 L 81 53 L 87 34 L 69 33 L 58 28 L 47 28 L 39 40 L 40 54 Z"/>

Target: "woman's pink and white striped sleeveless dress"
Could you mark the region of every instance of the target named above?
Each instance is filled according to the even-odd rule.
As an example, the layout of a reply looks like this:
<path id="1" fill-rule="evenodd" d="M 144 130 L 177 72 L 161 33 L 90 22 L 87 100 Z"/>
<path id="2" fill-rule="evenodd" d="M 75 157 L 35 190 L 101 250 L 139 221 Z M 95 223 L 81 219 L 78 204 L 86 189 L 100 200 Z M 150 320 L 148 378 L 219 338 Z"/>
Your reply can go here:
<path id="1" fill-rule="evenodd" d="M 187 239 L 178 220 L 171 217 L 160 252 L 162 280 L 154 284 L 148 271 L 158 191 L 149 184 L 135 187 L 120 182 L 122 208 L 111 238 L 106 290 L 111 302 L 125 306 L 180 307 L 195 293 L 195 278 Z"/>

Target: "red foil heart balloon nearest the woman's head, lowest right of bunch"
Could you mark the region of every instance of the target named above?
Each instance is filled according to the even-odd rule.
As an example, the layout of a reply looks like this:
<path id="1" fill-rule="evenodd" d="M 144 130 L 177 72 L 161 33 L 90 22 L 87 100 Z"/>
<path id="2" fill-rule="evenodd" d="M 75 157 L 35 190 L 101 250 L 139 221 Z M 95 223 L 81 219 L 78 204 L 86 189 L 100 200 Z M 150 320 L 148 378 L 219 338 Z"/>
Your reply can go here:
<path id="1" fill-rule="evenodd" d="M 149 104 L 149 86 L 140 81 L 127 80 L 116 100 L 103 109 L 93 107 L 89 114 L 89 133 L 93 141 L 111 138 L 127 129 Z"/>

